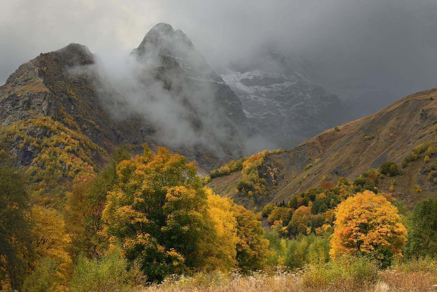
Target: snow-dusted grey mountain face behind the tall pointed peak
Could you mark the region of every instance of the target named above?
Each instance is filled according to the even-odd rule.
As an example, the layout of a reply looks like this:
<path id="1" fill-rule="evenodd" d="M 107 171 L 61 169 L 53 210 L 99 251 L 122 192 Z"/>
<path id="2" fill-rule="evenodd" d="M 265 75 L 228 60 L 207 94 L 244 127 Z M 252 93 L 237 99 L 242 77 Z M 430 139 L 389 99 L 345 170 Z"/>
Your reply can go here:
<path id="1" fill-rule="evenodd" d="M 264 52 L 263 58 L 260 66 L 221 75 L 241 99 L 250 124 L 261 133 L 281 147 L 292 147 L 349 120 L 347 107 L 310 81 L 305 68 L 273 51 Z"/>

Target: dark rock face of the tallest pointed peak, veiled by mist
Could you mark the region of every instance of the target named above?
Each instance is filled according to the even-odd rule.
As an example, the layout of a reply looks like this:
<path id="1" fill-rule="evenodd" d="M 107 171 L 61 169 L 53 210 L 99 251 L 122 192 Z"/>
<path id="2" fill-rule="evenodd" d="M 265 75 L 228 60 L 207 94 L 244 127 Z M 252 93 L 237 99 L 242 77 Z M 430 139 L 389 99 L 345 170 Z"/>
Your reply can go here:
<path id="1" fill-rule="evenodd" d="M 147 85 L 162 82 L 171 102 L 184 109 L 175 113 L 177 119 L 189 123 L 194 136 L 202 137 L 206 144 L 217 144 L 216 152 L 233 157 L 242 154 L 251 130 L 241 102 L 187 35 L 171 25 L 157 24 L 132 55 L 140 64 L 138 81 L 146 85 L 145 96 L 162 98 L 158 96 L 162 92 L 147 91 Z"/>

